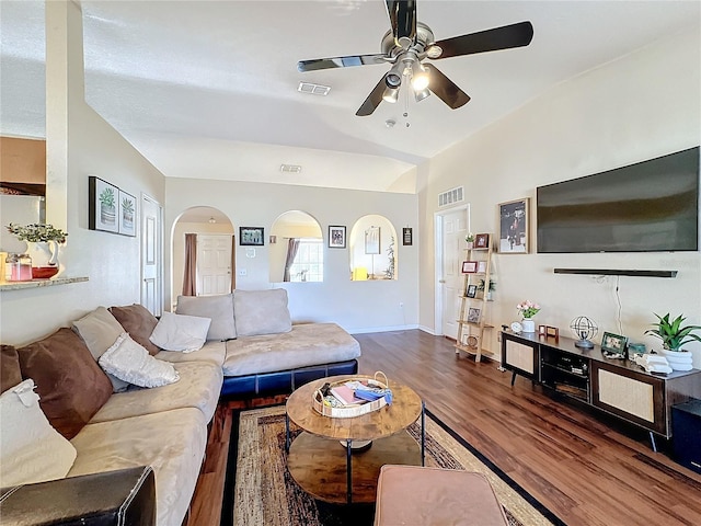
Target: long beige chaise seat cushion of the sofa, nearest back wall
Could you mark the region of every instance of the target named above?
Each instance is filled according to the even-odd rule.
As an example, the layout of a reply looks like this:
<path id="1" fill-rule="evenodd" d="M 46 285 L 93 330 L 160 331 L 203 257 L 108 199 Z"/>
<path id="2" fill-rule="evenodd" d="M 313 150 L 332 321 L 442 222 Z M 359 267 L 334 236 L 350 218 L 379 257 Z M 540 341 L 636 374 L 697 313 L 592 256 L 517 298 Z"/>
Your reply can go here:
<path id="1" fill-rule="evenodd" d="M 227 342 L 223 376 L 242 376 L 344 362 L 360 356 L 360 344 L 335 323 L 292 325 L 290 332 Z"/>

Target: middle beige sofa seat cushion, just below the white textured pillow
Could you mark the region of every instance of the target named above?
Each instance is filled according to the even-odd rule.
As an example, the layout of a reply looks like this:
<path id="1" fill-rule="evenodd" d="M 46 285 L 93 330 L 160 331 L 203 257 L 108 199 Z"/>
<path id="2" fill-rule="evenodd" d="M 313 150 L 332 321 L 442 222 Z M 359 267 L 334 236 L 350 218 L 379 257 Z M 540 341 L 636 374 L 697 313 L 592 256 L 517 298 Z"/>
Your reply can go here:
<path id="1" fill-rule="evenodd" d="M 133 387 L 127 392 L 115 393 L 95 413 L 90 423 L 128 419 L 181 408 L 197 408 L 209 422 L 217 409 L 223 381 L 221 366 L 207 362 L 183 362 L 173 366 L 180 375 L 179 381 L 151 389 Z"/>

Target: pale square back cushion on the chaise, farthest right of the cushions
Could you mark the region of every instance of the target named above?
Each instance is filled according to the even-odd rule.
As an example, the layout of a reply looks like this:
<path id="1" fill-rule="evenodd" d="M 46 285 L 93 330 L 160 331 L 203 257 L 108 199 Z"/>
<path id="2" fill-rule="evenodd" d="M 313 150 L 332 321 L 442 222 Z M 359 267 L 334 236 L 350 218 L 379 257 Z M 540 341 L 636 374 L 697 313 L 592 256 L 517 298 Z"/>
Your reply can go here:
<path id="1" fill-rule="evenodd" d="M 235 290 L 233 318 L 239 336 L 289 332 L 292 321 L 287 308 L 287 290 Z"/>

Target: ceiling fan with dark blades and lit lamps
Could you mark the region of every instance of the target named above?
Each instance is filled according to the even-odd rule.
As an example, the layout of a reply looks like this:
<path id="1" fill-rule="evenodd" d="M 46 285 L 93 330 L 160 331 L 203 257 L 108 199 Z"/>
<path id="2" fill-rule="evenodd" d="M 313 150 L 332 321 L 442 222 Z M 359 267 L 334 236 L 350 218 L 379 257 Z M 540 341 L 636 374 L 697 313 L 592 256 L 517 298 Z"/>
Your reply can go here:
<path id="1" fill-rule="evenodd" d="M 433 92 L 452 110 L 461 107 L 470 96 L 438 68 L 422 64 L 422 60 L 522 47 L 533 38 L 531 23 L 519 22 L 436 42 L 430 27 L 416 21 L 415 0 L 386 0 L 386 4 L 392 28 L 382 37 L 381 54 L 315 58 L 297 64 L 301 72 L 374 64 L 392 65 L 356 112 L 358 116 L 371 115 L 383 100 L 397 102 L 404 79 L 411 83 L 417 102 Z"/>

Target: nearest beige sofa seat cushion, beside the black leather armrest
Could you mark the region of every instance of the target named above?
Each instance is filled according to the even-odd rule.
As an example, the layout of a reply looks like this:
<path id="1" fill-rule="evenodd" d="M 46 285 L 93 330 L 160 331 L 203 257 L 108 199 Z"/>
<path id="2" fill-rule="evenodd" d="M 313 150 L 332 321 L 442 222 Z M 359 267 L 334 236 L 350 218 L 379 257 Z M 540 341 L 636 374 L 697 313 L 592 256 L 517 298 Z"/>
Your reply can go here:
<path id="1" fill-rule="evenodd" d="M 206 443 L 205 415 L 194 408 L 88 424 L 71 441 L 78 457 L 68 477 L 152 466 L 157 524 L 180 525 L 195 491 Z"/>

